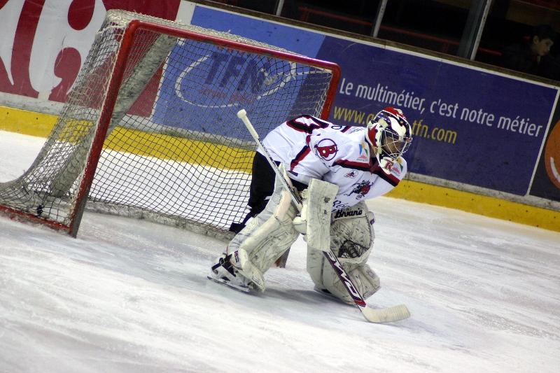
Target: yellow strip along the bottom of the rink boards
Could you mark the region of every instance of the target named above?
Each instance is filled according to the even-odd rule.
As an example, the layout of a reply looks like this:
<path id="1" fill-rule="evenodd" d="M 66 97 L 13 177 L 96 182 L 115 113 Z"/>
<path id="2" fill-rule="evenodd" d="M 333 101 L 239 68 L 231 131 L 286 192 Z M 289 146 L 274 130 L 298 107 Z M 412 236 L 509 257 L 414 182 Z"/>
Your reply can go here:
<path id="1" fill-rule="evenodd" d="M 0 106 L 0 129 L 5 131 L 47 137 L 56 120 L 56 115 Z M 119 139 L 127 140 L 123 142 Z M 254 154 L 251 150 L 122 127 L 113 130 L 105 142 L 105 148 L 179 162 L 188 160 L 195 164 L 217 168 L 225 167 L 247 173 L 251 172 Z M 174 153 L 170 153 L 169 148 L 173 148 Z M 239 162 L 235 163 L 234 160 Z M 472 192 L 403 180 L 387 196 L 460 209 L 491 218 L 510 220 L 560 232 L 560 211 L 477 195 Z"/>

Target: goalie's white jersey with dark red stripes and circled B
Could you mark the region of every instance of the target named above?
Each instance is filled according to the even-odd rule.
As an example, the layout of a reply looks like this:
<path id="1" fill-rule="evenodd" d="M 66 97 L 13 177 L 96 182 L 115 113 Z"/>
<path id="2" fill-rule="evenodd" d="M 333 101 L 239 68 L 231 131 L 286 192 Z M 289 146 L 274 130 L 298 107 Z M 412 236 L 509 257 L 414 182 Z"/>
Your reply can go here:
<path id="1" fill-rule="evenodd" d="M 283 122 L 262 143 L 275 161 L 283 162 L 290 178 L 305 184 L 318 178 L 338 185 L 335 211 L 384 195 L 407 172 L 402 157 L 389 174 L 381 170 L 364 136 L 365 127 L 333 125 L 302 115 Z"/>

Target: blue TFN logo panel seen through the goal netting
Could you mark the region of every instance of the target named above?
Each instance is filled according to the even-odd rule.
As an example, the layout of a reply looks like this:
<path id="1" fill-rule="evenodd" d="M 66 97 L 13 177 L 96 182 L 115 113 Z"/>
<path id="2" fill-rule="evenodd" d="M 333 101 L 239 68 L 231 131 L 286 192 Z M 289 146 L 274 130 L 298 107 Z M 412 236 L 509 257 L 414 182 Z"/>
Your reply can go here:
<path id="1" fill-rule="evenodd" d="M 244 108 L 255 122 L 282 122 L 293 113 L 302 81 L 292 64 L 267 57 L 248 59 L 216 45 L 179 43 L 165 70 L 153 121 L 167 126 L 232 136 L 235 113 Z M 185 65 L 185 61 L 193 61 Z M 183 67 L 184 66 L 184 67 Z M 189 120 L 185 115 L 189 113 Z"/>

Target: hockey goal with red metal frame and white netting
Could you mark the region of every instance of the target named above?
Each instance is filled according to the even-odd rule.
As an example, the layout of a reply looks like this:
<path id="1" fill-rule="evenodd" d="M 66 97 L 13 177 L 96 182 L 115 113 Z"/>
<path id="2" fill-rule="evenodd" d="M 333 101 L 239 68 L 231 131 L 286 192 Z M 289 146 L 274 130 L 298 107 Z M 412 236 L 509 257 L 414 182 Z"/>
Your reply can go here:
<path id="1" fill-rule="evenodd" d="M 0 210 L 76 236 L 93 209 L 230 238 L 255 143 L 327 118 L 339 67 L 232 34 L 110 10 L 45 145 Z M 86 204 L 87 202 L 87 204 Z"/>

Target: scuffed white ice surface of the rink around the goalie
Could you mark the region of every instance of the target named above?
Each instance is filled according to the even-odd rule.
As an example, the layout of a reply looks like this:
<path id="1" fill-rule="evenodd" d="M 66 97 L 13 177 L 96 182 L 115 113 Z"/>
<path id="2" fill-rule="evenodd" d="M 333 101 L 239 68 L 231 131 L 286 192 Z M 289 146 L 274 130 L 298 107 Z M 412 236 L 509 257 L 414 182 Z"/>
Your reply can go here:
<path id="1" fill-rule="evenodd" d="M 43 139 L 0 132 L 0 182 Z M 248 295 L 206 279 L 223 244 L 85 213 L 72 239 L 0 216 L 0 372 L 558 372 L 560 233 L 380 197 L 365 322 L 315 293 L 297 241 Z"/>

